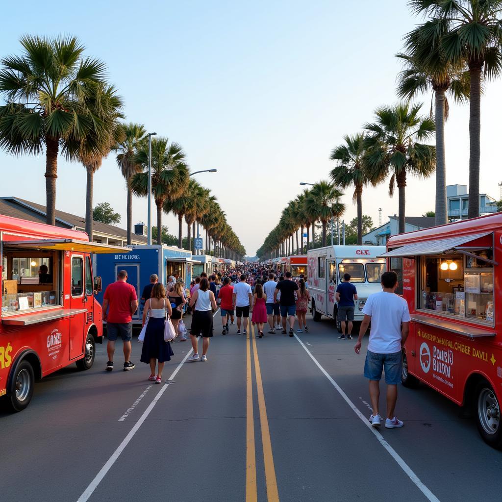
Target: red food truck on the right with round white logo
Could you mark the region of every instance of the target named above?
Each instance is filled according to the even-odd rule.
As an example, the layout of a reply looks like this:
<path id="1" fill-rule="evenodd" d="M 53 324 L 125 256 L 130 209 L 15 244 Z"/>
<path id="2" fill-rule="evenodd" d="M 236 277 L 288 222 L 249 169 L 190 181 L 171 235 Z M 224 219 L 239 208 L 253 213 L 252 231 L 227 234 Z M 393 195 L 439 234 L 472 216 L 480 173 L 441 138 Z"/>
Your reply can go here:
<path id="1" fill-rule="evenodd" d="M 502 213 L 395 235 L 387 249 L 411 314 L 403 384 L 467 407 L 501 448 Z"/>

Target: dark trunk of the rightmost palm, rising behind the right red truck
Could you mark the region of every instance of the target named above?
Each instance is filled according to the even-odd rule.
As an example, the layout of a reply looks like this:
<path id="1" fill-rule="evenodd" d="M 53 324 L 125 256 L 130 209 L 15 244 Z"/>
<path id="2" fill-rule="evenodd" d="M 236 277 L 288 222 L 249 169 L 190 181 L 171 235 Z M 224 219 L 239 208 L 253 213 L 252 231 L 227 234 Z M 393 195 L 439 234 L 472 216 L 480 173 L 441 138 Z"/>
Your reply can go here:
<path id="1" fill-rule="evenodd" d="M 476 62 L 469 64 L 469 209 L 468 218 L 479 216 L 479 159 L 481 134 L 481 68 Z"/>

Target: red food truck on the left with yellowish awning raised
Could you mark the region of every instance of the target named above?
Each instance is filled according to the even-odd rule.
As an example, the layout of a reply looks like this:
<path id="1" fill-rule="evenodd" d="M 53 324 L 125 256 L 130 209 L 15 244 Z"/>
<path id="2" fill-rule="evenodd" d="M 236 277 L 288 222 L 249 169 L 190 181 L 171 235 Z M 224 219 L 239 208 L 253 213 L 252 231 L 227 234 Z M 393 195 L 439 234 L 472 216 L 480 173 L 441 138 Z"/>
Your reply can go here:
<path id="1" fill-rule="evenodd" d="M 13 411 L 28 406 L 35 379 L 73 362 L 92 366 L 103 324 L 90 254 L 129 251 L 89 242 L 84 232 L 0 216 L 0 396 Z"/>

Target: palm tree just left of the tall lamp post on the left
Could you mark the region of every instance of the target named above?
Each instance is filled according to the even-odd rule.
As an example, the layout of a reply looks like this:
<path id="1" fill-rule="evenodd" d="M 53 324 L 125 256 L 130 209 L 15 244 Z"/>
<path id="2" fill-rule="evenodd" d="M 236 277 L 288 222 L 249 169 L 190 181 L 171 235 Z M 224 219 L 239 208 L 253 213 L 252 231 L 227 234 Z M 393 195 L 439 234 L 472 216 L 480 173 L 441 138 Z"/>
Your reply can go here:
<path id="1" fill-rule="evenodd" d="M 121 139 L 112 148 L 117 153 L 116 161 L 127 187 L 127 243 L 133 240 L 133 176 L 141 171 L 141 165 L 136 162 L 136 153 L 141 140 L 146 134 L 145 126 L 130 122 L 122 124 Z M 180 245 L 181 247 L 181 245 Z"/>

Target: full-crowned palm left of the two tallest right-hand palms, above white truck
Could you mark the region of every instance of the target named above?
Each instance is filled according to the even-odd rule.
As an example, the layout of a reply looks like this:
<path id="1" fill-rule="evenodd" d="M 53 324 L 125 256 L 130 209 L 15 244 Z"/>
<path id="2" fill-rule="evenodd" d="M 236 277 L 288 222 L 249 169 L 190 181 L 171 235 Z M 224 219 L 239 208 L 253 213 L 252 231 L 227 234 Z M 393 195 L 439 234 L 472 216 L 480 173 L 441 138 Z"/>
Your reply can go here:
<path id="1" fill-rule="evenodd" d="M 377 184 L 391 174 L 391 197 L 398 185 L 399 233 L 405 231 L 407 175 L 427 178 L 436 167 L 436 148 L 419 143 L 430 139 L 436 130 L 434 118 L 419 115 L 421 107 L 409 103 L 382 106 L 375 110 L 375 122 L 364 126 L 368 179 Z"/>

